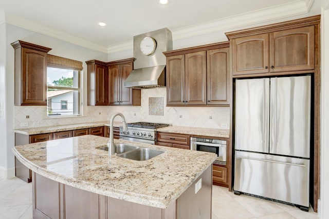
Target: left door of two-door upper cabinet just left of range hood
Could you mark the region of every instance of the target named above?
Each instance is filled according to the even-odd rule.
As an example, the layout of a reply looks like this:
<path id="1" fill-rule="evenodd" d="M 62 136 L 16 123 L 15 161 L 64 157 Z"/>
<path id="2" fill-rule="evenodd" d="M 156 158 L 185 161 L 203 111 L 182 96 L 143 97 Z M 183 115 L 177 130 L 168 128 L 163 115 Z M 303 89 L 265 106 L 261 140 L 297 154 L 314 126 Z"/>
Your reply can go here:
<path id="1" fill-rule="evenodd" d="M 120 65 L 108 67 L 108 104 L 120 104 Z"/>

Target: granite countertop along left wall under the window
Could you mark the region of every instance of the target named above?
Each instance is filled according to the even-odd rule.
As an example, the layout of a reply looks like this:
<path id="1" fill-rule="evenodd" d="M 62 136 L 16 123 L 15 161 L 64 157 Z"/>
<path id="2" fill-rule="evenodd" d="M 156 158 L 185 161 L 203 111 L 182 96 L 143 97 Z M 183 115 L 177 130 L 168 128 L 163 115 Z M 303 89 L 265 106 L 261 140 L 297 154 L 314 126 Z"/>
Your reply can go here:
<path id="1" fill-rule="evenodd" d="M 59 132 L 59 131 L 68 131 L 68 130 L 77 130 L 85 128 L 93 128 L 99 126 L 109 126 L 108 121 L 92 122 L 92 123 L 78 123 L 78 124 L 68 124 L 68 125 L 58 125 L 58 126 L 41 126 L 41 127 L 32 127 L 32 128 L 23 128 L 23 129 L 14 129 L 13 132 L 20 134 L 42 134 L 50 132 Z M 114 127 L 122 126 L 122 122 L 114 122 Z"/>

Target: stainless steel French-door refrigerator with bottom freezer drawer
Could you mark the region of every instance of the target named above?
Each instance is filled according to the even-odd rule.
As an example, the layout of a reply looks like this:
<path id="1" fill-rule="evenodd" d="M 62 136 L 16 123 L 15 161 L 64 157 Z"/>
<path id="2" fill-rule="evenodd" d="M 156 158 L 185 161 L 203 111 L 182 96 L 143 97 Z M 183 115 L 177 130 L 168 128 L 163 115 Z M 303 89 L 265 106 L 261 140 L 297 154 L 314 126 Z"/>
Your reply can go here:
<path id="1" fill-rule="evenodd" d="M 236 79 L 234 192 L 308 210 L 309 75 Z"/>

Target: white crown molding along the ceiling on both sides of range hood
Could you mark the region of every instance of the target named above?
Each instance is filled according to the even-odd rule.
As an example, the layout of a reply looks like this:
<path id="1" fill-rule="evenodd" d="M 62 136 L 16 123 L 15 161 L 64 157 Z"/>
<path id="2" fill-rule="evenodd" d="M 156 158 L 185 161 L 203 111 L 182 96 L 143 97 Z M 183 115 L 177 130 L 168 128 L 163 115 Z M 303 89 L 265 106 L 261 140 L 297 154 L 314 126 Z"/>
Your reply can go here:
<path id="1" fill-rule="evenodd" d="M 206 22 L 199 25 L 189 26 L 186 28 L 176 29 L 172 31 L 173 41 L 199 36 L 208 33 L 236 30 L 245 28 L 250 25 L 257 25 L 264 22 L 276 21 L 291 16 L 297 16 L 308 13 L 315 0 L 296 0 L 287 4 L 282 4 L 274 7 L 264 8 L 248 13 L 238 14 L 215 21 Z M 17 15 L 4 12 L 0 10 L 0 24 L 2 18 L 5 16 L 5 22 L 18 27 L 22 27 L 34 32 L 38 32 L 50 37 L 61 39 L 62 41 L 82 46 L 95 51 L 112 54 L 116 52 L 126 51 L 133 49 L 133 41 L 127 41 L 121 44 L 102 46 L 81 37 L 68 34 L 66 32 L 58 31 L 41 25 L 35 22 L 28 21 Z"/>

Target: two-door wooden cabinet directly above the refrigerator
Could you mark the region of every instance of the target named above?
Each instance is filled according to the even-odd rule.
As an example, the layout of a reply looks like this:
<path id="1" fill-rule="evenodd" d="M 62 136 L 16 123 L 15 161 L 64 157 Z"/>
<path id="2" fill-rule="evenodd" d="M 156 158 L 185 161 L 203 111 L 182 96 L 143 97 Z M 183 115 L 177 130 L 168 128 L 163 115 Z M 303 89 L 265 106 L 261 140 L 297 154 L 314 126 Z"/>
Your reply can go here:
<path id="1" fill-rule="evenodd" d="M 312 25 L 233 38 L 233 75 L 312 70 L 314 37 Z"/>

